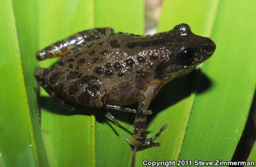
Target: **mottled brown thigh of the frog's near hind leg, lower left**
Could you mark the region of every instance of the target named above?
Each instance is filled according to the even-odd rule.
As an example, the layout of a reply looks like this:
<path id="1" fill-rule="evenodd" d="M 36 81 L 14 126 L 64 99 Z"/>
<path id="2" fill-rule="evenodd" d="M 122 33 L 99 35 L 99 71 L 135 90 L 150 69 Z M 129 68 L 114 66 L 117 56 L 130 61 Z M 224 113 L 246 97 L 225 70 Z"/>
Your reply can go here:
<path id="1" fill-rule="evenodd" d="M 62 105 L 68 105 L 69 109 L 75 109 L 78 105 L 103 106 L 105 88 L 95 76 L 41 67 L 36 69 L 34 76 L 51 97 Z"/>

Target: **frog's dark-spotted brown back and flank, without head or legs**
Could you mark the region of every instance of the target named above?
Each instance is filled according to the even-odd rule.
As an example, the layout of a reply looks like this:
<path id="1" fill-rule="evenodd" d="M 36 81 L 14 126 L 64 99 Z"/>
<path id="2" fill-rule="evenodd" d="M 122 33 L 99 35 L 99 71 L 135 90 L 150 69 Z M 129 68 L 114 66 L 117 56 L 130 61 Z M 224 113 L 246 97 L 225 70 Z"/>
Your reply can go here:
<path id="1" fill-rule="evenodd" d="M 60 60 L 55 69 L 97 76 L 107 101 L 123 105 L 137 102 L 145 85 L 154 80 L 160 61 L 150 37 L 117 33 L 94 40 Z M 156 41 L 155 37 L 152 40 Z M 149 45 L 150 44 L 150 45 Z"/>

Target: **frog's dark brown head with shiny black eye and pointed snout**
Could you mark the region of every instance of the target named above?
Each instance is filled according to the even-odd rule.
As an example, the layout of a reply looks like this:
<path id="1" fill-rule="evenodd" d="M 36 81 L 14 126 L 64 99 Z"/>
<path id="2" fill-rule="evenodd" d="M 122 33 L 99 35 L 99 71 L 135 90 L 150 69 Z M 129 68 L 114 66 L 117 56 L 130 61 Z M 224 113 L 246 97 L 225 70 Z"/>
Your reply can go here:
<path id="1" fill-rule="evenodd" d="M 162 69 L 163 78 L 173 78 L 173 76 L 183 76 L 189 73 L 197 65 L 206 61 L 214 53 L 216 45 L 207 37 L 197 36 L 192 33 L 186 24 L 176 25 L 168 32 L 170 43 L 168 48 L 170 55 L 165 60 Z M 170 77 L 172 76 L 172 77 Z"/>

